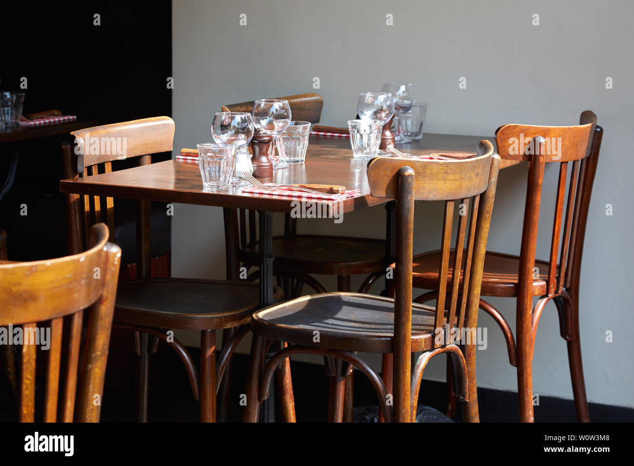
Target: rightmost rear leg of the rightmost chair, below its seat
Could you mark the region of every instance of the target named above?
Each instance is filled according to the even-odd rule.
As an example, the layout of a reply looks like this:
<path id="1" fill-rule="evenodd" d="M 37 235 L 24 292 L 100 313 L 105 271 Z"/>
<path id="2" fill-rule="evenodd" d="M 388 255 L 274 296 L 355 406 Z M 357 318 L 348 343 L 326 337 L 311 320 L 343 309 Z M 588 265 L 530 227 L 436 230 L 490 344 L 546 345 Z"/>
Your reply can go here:
<path id="1" fill-rule="evenodd" d="M 590 422 L 590 410 L 586 398 L 586 385 L 583 380 L 583 365 L 581 364 L 581 337 L 579 335 L 579 298 L 576 291 L 571 292 L 570 301 L 564 299 L 564 307 L 569 306 L 571 316 L 570 327 L 572 339 L 567 342 L 568 363 L 570 376 L 573 381 L 574 407 L 579 422 Z"/>

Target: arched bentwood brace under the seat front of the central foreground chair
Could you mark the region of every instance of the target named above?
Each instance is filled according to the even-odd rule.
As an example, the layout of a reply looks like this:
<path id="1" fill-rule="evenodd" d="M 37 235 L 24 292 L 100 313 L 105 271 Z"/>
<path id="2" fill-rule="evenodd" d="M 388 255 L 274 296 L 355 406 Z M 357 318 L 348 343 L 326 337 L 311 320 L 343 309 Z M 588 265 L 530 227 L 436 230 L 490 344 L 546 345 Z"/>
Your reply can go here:
<path id="1" fill-rule="evenodd" d="M 269 397 L 269 387 L 271 386 L 271 379 L 273 378 L 275 368 L 281 363 L 281 361 L 287 359 L 293 354 L 318 354 L 327 358 L 342 359 L 343 361 L 346 361 L 347 363 L 350 363 L 351 365 L 358 368 L 366 377 L 368 377 L 368 379 L 370 379 L 370 382 L 372 382 L 372 386 L 374 387 L 374 390 L 379 398 L 379 406 L 384 411 L 383 415 L 387 422 L 391 422 L 392 411 L 389 406 L 387 406 L 387 403 L 385 403 L 385 401 L 387 400 L 387 391 L 385 391 L 385 385 L 383 381 L 379 377 L 378 373 L 372 368 L 372 366 L 365 363 L 365 361 L 359 358 L 357 354 L 350 353 L 348 351 L 334 351 L 330 349 L 321 349 L 312 346 L 300 345 L 289 346 L 281 349 L 273 355 L 268 364 L 264 367 L 261 384 L 259 384 L 259 387 L 255 391 L 257 392 L 259 401 L 264 401 Z M 249 375 L 251 376 L 252 372 L 250 372 Z M 253 417 L 253 415 L 251 415 L 251 417 Z"/>

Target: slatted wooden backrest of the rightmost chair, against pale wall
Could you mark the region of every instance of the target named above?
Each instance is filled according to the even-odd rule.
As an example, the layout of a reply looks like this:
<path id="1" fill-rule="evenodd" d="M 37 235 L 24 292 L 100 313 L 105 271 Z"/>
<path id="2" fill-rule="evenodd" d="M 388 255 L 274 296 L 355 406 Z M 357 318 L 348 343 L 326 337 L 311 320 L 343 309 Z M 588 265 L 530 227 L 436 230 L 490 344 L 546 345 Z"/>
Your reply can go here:
<path id="1" fill-rule="evenodd" d="M 535 273 L 534 266 L 541 189 L 547 163 L 559 164 L 555 218 L 548 257 L 547 294 L 561 292 L 569 287 L 574 276 L 578 280 L 590 194 L 603 133 L 603 129 L 597 126 L 597 115 L 590 110 L 581 113 L 579 121 L 578 126 L 508 124 L 499 127 L 495 133 L 502 159 L 529 162 L 520 253 L 519 299 L 532 299 L 533 278 L 539 275 Z M 572 169 L 569 169 L 571 162 Z M 569 185 L 567 196 L 566 184 Z"/>

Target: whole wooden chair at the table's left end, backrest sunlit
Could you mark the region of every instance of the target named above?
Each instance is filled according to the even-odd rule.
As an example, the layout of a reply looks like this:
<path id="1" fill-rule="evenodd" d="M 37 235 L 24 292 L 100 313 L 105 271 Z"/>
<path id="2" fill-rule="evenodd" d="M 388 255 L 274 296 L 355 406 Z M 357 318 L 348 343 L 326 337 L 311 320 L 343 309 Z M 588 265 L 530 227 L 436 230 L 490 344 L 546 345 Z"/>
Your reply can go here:
<path id="1" fill-rule="evenodd" d="M 154 117 L 71 134 L 76 137 L 78 147 L 75 151 L 73 145 L 62 145 L 65 174 L 74 173 L 77 178 L 98 176 L 111 172 L 112 162 L 118 158 L 107 150 L 113 141 L 127 141 L 126 158 L 138 158 L 139 165 L 152 163 L 153 153 L 172 150 L 174 122 L 169 117 Z M 70 250 L 82 250 L 84 231 L 94 222 L 105 221 L 110 237 L 114 237 L 113 198 L 67 196 Z M 215 422 L 217 385 L 236 344 L 247 333 L 245 324 L 259 307 L 259 286 L 222 280 L 151 278 L 150 201 L 139 201 L 136 235 L 138 280 L 119 283 L 114 321 L 117 327 L 134 332 L 138 420 L 147 420 L 149 356 L 157 351 L 161 340 L 176 351 L 185 366 L 193 396 L 200 401 L 201 421 Z M 275 287 L 274 299 L 281 299 L 281 295 L 281 289 Z M 216 366 L 216 329 L 241 326 L 235 338 L 224 344 Z M 177 329 L 200 331 L 199 373 L 183 344 L 173 337 L 172 331 Z"/>

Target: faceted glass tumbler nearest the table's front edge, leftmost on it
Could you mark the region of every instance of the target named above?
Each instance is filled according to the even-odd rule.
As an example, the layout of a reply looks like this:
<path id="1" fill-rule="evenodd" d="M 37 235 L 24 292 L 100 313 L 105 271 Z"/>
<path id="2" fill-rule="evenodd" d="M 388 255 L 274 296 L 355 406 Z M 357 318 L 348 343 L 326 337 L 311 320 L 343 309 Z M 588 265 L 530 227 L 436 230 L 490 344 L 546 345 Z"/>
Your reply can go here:
<path id="1" fill-rule="evenodd" d="M 228 190 L 235 168 L 236 146 L 209 143 L 196 146 L 205 191 Z"/>

